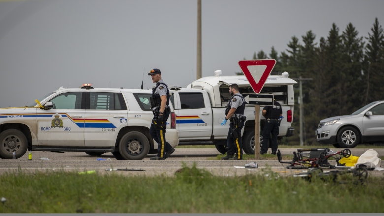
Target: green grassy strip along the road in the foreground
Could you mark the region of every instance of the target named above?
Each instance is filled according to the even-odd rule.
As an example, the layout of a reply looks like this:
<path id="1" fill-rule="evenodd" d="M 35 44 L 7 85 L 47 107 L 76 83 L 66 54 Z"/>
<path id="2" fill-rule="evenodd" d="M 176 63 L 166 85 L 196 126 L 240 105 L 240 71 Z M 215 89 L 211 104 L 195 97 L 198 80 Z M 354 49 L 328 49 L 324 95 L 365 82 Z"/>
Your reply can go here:
<path id="1" fill-rule="evenodd" d="M 218 177 L 183 166 L 174 177 L 78 172 L 0 176 L 0 213 L 380 213 L 382 178 L 356 184 L 352 175 L 311 181 L 259 174 Z M 356 205 L 358 203 L 358 205 Z"/>

